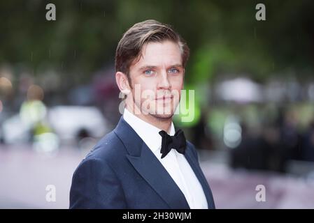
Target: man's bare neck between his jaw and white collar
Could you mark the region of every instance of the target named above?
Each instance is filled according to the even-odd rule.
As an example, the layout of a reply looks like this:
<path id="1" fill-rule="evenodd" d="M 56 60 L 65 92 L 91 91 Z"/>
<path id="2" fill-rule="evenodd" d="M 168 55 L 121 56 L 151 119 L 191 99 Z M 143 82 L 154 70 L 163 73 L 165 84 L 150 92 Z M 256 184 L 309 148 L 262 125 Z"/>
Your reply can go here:
<path id="1" fill-rule="evenodd" d="M 169 134 L 172 118 L 159 118 L 156 116 L 152 116 L 151 114 L 145 115 L 142 112 L 136 114 L 136 112 L 132 111 L 132 109 L 129 109 L 129 107 L 127 107 L 127 110 L 131 112 L 131 114 L 134 114 L 134 116 L 141 118 L 141 120 L 145 121 L 146 123 L 150 123 L 150 125 L 154 125 L 156 128 L 164 130 Z"/>

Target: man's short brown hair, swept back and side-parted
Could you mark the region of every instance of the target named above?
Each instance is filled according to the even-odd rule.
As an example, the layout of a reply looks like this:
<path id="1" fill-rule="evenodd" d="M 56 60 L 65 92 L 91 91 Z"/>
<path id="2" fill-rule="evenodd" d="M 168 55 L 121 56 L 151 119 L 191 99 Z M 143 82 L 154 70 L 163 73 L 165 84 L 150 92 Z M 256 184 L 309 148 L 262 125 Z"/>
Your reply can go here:
<path id="1" fill-rule="evenodd" d="M 156 20 L 145 20 L 134 24 L 122 36 L 115 52 L 115 71 L 127 75 L 131 84 L 129 68 L 131 63 L 140 56 L 143 45 L 149 42 L 162 43 L 164 40 L 178 43 L 183 67 L 185 67 L 190 56 L 190 49 L 187 47 L 185 40 L 176 31 L 173 31 L 170 25 L 162 24 Z"/>

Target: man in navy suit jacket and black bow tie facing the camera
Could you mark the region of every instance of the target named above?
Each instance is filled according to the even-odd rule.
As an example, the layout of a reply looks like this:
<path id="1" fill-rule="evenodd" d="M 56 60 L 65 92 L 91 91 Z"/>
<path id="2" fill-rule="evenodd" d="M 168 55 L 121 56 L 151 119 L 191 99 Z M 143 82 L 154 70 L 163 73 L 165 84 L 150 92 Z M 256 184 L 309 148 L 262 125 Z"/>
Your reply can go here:
<path id="1" fill-rule="evenodd" d="M 73 174 L 70 208 L 215 208 L 196 149 L 172 123 L 189 54 L 155 20 L 124 33 L 115 54 L 124 114 Z"/>

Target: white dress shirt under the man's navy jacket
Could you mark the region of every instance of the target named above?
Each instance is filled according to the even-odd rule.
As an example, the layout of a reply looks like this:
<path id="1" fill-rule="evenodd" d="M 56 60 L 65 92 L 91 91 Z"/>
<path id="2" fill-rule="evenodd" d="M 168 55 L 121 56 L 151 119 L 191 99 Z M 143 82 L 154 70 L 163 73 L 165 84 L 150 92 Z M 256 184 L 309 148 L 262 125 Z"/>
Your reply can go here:
<path id="1" fill-rule="evenodd" d="M 176 182 L 183 192 L 190 208 L 207 209 L 208 205 L 201 183 L 199 183 L 185 156 L 178 153 L 175 149 L 171 149 L 164 158 L 161 158 L 162 153 L 160 153 L 160 148 L 162 146 L 162 137 L 159 134 L 161 130 L 150 123 L 146 123 L 127 109 L 124 109 L 123 118 L 131 125 L 131 128 L 135 130 L 138 136 L 143 139 L 148 148 L 150 148 L 152 153 L 162 163 L 166 171 L 168 171 L 171 178 L 173 178 L 174 182 Z M 169 135 L 173 136 L 173 134 L 175 134 L 175 129 L 171 122 Z"/>

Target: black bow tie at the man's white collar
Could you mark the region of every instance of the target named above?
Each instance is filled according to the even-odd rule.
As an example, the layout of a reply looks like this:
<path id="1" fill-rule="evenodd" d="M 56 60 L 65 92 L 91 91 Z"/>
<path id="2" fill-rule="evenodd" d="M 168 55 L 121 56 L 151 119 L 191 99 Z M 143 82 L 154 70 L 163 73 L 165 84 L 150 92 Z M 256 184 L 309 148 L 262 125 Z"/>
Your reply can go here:
<path id="1" fill-rule="evenodd" d="M 185 154 L 187 141 L 185 141 L 183 130 L 178 130 L 173 136 L 170 136 L 164 130 L 160 131 L 159 134 L 162 136 L 162 148 L 160 150 L 162 158 L 171 151 L 171 148 L 176 149 L 178 153 Z"/>

